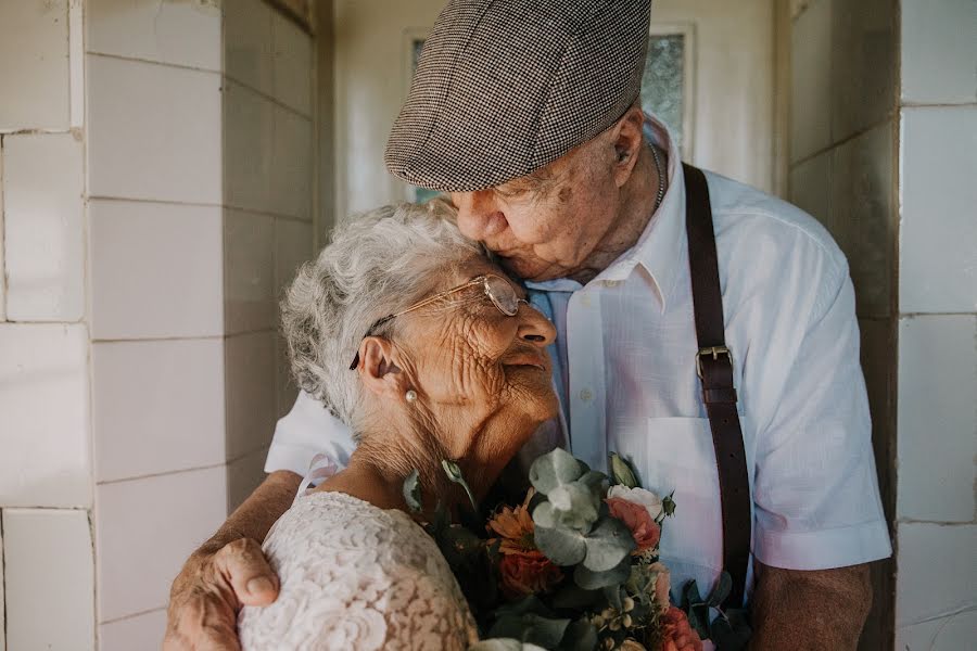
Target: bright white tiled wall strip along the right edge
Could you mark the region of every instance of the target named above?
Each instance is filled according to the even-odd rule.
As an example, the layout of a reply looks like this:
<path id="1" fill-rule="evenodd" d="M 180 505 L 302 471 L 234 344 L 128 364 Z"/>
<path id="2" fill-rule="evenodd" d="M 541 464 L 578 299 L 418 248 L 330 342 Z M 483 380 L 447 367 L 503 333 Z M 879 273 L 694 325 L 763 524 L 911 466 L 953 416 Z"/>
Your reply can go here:
<path id="1" fill-rule="evenodd" d="M 977 630 L 977 2 L 903 0 L 897 648 Z"/>

